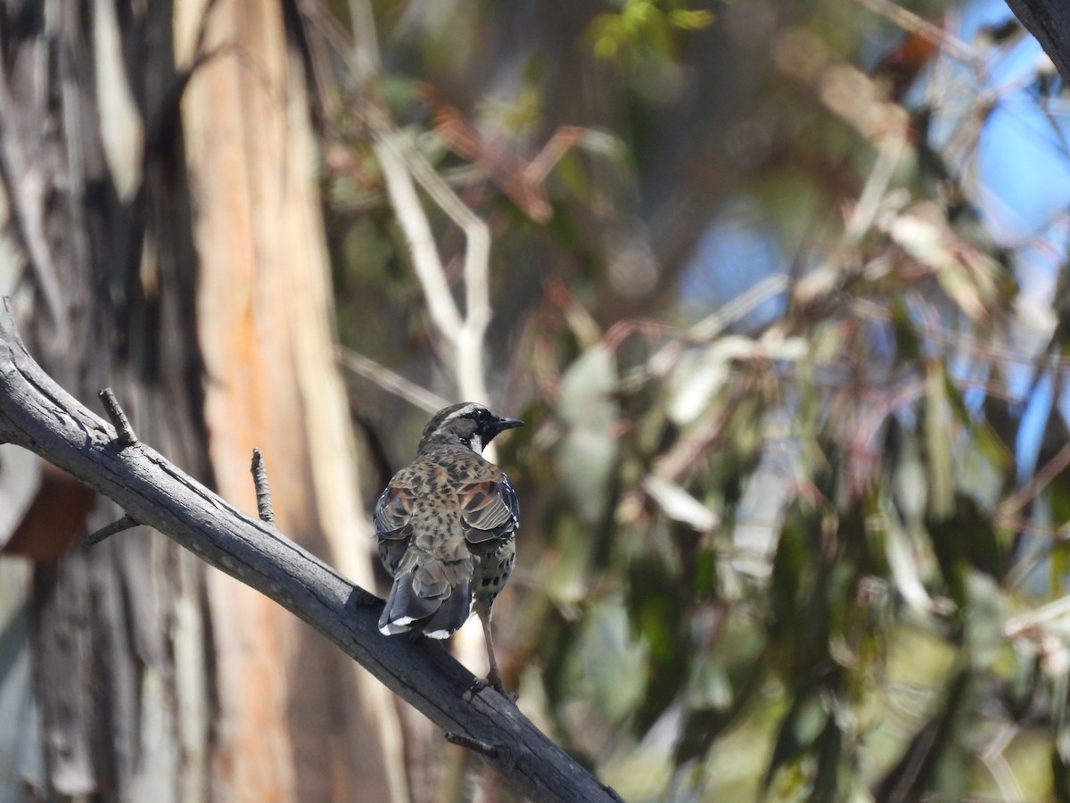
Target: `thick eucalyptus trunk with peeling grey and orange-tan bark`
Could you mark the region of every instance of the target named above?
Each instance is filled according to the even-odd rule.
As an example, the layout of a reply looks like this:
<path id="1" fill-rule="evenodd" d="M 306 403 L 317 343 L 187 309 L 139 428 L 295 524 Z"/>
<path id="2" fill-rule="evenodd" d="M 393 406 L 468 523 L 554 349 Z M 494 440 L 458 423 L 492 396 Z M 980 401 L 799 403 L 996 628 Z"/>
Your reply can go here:
<path id="1" fill-rule="evenodd" d="M 0 291 L 64 388 L 110 385 L 142 440 L 254 512 L 259 446 L 279 527 L 369 587 L 284 11 L 4 0 Z M 119 512 L 10 450 L 0 800 L 408 798 L 370 678 L 147 528 L 85 548 Z"/>

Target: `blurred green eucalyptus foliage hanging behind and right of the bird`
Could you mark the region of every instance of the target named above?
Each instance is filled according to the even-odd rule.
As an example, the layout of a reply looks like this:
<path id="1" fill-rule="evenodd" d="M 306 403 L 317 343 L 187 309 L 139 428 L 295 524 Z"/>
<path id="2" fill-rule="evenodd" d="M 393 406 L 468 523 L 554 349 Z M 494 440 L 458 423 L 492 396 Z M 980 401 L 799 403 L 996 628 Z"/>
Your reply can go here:
<path id="1" fill-rule="evenodd" d="M 500 460 L 521 709 L 630 801 L 1070 800 L 1070 336 L 1057 293 L 1020 292 L 1029 244 L 978 216 L 987 81 L 1019 40 L 846 0 L 505 5 L 378 2 L 361 103 L 491 228 L 487 365 L 530 423 Z M 581 59 L 562 90 L 554 59 L 584 49 L 675 66 L 652 95 Z M 325 108 L 342 339 L 449 396 L 360 104 Z M 781 262 L 704 261 L 737 199 Z M 459 287 L 463 240 L 428 210 Z M 701 225 L 669 246 L 673 210 Z M 364 380 L 354 406 L 408 459 L 424 413 Z"/>

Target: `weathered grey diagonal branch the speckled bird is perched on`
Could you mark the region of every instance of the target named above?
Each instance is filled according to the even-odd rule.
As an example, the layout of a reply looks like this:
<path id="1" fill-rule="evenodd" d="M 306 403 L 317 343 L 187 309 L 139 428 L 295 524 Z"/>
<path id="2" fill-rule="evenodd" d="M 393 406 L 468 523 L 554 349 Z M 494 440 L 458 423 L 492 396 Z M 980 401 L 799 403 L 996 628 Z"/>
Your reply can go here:
<path id="1" fill-rule="evenodd" d="M 46 375 L 0 306 L 0 441 L 68 471 L 127 516 L 154 527 L 209 564 L 282 605 L 334 641 L 395 694 L 482 754 L 505 782 L 536 801 L 612 801 L 602 786 L 515 706 L 438 642 L 379 634 L 382 602 L 220 499 L 144 443 L 123 446 L 114 428 Z"/>

